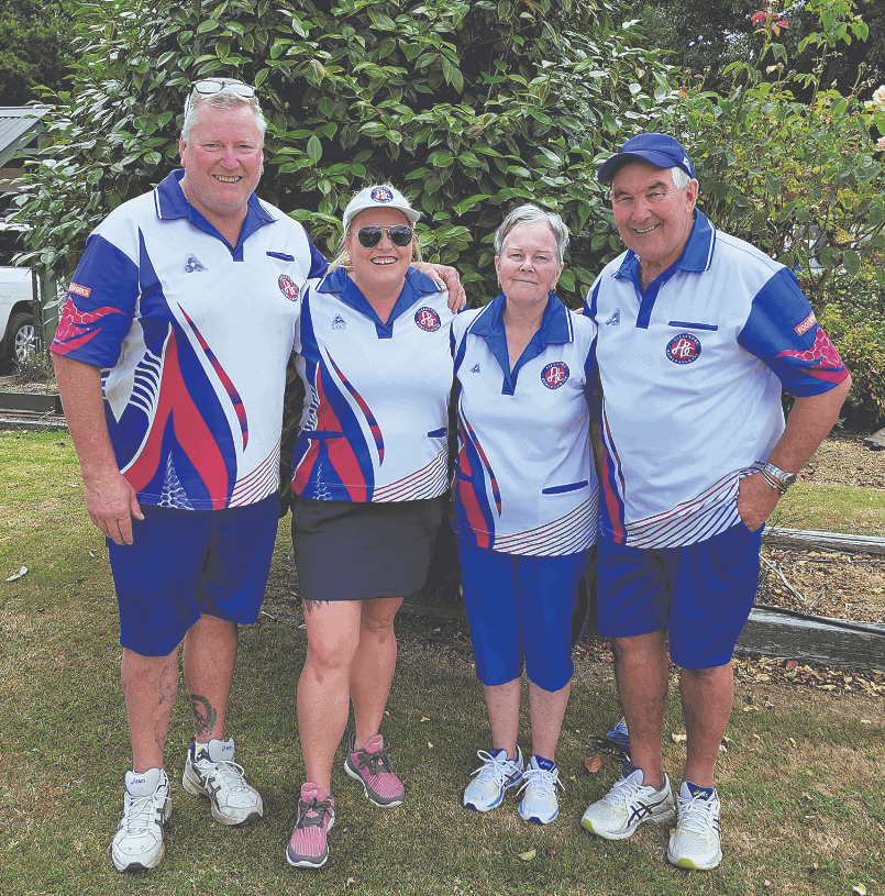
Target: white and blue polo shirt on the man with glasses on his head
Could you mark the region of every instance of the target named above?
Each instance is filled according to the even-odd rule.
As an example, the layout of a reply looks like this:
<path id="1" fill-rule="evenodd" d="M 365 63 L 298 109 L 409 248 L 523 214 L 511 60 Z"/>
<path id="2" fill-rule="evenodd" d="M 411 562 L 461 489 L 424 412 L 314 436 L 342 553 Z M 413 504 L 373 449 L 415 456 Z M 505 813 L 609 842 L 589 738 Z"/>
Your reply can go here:
<path id="1" fill-rule="evenodd" d="M 182 176 L 89 236 L 52 351 L 101 368 L 111 444 L 140 502 L 218 510 L 277 489 L 300 292 L 327 263 L 254 193 L 231 246 Z"/>

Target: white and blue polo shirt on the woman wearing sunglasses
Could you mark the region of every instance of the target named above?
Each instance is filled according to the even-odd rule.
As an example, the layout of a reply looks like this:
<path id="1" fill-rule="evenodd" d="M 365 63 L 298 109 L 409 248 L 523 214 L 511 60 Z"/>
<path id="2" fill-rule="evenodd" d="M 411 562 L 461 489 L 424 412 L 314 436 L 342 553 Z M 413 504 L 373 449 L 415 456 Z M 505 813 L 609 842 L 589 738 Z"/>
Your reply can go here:
<path id="1" fill-rule="evenodd" d="M 330 501 L 409 501 L 447 488 L 454 314 L 409 268 L 383 323 L 343 268 L 311 283 L 296 328 L 305 383 L 292 490 Z"/>

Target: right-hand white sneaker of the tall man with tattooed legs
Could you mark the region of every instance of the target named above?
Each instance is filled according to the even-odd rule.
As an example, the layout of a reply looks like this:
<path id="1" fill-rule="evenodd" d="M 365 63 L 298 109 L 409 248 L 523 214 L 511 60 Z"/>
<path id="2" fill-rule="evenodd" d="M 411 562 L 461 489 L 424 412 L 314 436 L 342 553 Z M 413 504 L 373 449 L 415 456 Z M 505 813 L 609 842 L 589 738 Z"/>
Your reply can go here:
<path id="1" fill-rule="evenodd" d="M 261 794 L 246 784 L 242 765 L 233 761 L 233 738 L 212 739 L 195 755 L 191 741 L 181 786 L 191 796 L 209 797 L 212 818 L 221 825 L 245 825 L 264 815 Z"/>

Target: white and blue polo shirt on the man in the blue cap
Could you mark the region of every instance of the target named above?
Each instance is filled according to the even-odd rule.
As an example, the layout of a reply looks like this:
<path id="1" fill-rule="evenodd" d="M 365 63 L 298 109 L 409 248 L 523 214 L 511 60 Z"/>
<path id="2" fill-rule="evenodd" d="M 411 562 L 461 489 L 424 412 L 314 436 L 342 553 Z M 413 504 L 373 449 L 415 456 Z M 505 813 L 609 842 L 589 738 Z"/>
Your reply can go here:
<path id="1" fill-rule="evenodd" d="M 627 252 L 585 313 L 604 394 L 600 526 L 619 544 L 694 544 L 737 524 L 740 479 L 784 431 L 782 387 L 819 395 L 848 376 L 793 272 L 699 211 L 644 292 Z"/>

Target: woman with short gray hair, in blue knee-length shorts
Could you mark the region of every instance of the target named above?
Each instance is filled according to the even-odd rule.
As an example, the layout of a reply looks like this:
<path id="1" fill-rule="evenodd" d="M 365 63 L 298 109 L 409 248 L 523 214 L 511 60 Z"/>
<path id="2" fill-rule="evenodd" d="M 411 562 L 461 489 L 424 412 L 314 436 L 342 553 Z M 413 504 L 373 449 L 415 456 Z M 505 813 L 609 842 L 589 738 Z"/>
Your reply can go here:
<path id="1" fill-rule="evenodd" d="M 463 803 L 488 811 L 520 785 L 520 816 L 546 825 L 558 815 L 554 754 L 574 673 L 572 616 L 596 541 L 588 409 L 596 324 L 553 292 L 568 245 L 557 214 L 520 206 L 494 245 L 501 294 L 452 324 L 453 527 L 491 727 Z M 517 745 L 523 659 L 528 764 Z"/>

